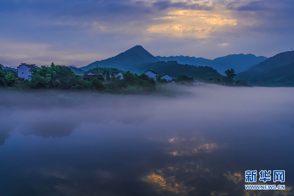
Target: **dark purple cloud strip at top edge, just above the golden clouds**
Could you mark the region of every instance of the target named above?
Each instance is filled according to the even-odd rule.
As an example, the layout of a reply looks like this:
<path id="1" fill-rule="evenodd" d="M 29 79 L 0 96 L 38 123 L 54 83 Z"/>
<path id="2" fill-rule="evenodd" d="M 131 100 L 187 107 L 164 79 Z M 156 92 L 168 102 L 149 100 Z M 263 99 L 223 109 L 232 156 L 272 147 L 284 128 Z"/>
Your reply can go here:
<path id="1" fill-rule="evenodd" d="M 177 7 L 181 9 L 191 9 L 191 10 L 206 10 L 210 11 L 213 9 L 212 6 L 200 5 L 199 3 L 194 3 L 192 5 L 188 4 L 188 2 L 175 2 L 171 1 L 157 1 L 152 3 L 153 7 L 157 7 L 158 10 L 165 10 L 169 7 Z"/>

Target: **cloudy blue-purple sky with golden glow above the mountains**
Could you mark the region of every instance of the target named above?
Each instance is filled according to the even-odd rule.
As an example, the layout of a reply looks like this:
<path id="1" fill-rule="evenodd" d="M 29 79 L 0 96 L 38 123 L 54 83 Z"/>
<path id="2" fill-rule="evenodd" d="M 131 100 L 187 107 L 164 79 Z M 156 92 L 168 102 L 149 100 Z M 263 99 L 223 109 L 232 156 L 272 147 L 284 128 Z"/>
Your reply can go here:
<path id="1" fill-rule="evenodd" d="M 0 0 L 0 63 L 86 66 L 154 56 L 271 57 L 294 47 L 293 0 Z"/>

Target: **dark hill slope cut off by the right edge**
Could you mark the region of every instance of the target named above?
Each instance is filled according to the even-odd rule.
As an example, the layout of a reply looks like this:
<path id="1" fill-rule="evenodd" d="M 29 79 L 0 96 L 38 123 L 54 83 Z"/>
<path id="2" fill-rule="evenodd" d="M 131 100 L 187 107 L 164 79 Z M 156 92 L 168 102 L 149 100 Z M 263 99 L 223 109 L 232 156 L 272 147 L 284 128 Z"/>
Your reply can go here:
<path id="1" fill-rule="evenodd" d="M 294 51 L 277 54 L 237 74 L 236 79 L 255 86 L 294 86 Z"/>

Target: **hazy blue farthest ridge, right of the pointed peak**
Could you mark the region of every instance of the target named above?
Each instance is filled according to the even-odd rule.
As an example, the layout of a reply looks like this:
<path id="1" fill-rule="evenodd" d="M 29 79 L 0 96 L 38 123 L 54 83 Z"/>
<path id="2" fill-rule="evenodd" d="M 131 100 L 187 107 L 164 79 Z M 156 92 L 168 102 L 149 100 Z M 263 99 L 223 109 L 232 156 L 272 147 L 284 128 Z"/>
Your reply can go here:
<path id="1" fill-rule="evenodd" d="M 156 56 L 156 58 L 162 61 L 177 61 L 180 64 L 209 66 L 216 69 L 222 75 L 224 75 L 227 69 L 231 68 L 234 69 L 236 73 L 243 72 L 267 59 L 267 57 L 257 57 L 253 54 L 231 54 L 224 57 L 215 58 L 213 60 L 189 56 Z"/>

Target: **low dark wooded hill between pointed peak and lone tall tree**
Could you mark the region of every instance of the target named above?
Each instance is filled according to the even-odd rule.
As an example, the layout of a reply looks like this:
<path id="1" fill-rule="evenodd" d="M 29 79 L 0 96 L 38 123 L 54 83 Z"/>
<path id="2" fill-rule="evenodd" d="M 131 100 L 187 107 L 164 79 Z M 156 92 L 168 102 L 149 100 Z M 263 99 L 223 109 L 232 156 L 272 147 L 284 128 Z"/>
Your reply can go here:
<path id="1" fill-rule="evenodd" d="M 222 78 L 222 75 L 217 72 L 216 69 L 208 66 L 193 66 L 188 64 L 180 64 L 177 61 L 158 61 L 155 63 L 146 63 L 139 68 L 142 73 L 146 70 L 153 70 L 158 74 L 170 74 L 174 77 L 179 77 L 184 74 L 188 77 L 193 77 L 194 79 L 208 79 L 208 78 Z"/>

